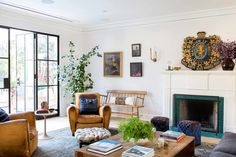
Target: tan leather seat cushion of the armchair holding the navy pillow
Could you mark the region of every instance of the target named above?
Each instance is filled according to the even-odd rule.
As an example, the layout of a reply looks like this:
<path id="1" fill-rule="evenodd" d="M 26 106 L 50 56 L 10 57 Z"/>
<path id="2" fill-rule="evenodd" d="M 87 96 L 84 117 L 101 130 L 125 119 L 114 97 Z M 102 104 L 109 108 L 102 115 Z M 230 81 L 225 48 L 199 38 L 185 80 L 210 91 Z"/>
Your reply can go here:
<path id="1" fill-rule="evenodd" d="M 99 115 L 79 115 L 78 123 L 101 123 L 102 117 Z"/>

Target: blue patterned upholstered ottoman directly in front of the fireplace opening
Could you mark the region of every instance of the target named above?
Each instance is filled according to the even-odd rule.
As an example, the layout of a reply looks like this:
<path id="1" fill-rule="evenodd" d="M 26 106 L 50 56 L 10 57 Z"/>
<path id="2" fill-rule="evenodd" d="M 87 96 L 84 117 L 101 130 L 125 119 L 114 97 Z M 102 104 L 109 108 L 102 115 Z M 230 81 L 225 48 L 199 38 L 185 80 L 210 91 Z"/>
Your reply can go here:
<path id="1" fill-rule="evenodd" d="M 195 137 L 195 145 L 201 144 L 201 123 L 191 120 L 182 120 L 178 124 L 178 131 Z"/>

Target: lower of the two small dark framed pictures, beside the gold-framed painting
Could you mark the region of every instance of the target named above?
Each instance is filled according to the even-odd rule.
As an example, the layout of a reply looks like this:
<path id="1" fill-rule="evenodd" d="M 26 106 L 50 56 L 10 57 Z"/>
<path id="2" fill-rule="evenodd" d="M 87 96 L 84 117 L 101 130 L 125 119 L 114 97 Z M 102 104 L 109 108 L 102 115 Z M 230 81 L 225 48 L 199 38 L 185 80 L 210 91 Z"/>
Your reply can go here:
<path id="1" fill-rule="evenodd" d="M 143 76 L 143 63 L 142 62 L 130 63 L 130 76 L 131 77 Z"/>

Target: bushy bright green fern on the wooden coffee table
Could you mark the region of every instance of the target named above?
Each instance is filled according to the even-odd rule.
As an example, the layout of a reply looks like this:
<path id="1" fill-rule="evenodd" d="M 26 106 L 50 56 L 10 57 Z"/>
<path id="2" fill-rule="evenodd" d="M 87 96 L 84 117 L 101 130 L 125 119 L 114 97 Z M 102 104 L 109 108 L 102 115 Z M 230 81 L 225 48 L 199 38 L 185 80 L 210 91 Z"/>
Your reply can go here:
<path id="1" fill-rule="evenodd" d="M 147 140 L 152 141 L 155 128 L 150 122 L 144 122 L 135 117 L 121 122 L 118 131 L 121 133 L 123 140 L 139 143 Z"/>

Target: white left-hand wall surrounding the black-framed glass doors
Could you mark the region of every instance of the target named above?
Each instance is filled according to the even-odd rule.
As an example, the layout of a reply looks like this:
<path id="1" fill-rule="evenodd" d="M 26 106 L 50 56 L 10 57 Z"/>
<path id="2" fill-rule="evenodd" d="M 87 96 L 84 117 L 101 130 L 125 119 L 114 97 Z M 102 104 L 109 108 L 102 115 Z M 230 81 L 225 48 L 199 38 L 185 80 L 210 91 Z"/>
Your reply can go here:
<path id="1" fill-rule="evenodd" d="M 79 28 L 72 26 L 69 23 L 55 22 L 55 20 L 53 21 L 39 16 L 22 14 L 0 8 L 0 25 L 59 35 L 60 56 L 68 52 L 68 44 L 70 40 L 72 40 L 77 46 L 82 45 Z M 81 50 L 81 48 L 77 47 L 77 51 L 79 50 Z M 62 116 L 66 115 L 66 107 L 71 101 L 68 97 L 63 97 L 63 89 L 64 87 L 61 87 L 60 91 L 60 114 Z"/>

